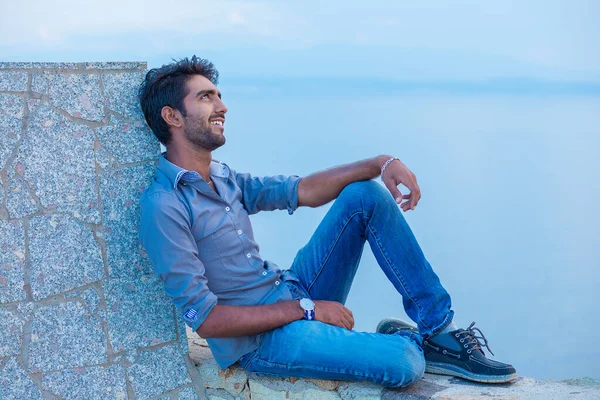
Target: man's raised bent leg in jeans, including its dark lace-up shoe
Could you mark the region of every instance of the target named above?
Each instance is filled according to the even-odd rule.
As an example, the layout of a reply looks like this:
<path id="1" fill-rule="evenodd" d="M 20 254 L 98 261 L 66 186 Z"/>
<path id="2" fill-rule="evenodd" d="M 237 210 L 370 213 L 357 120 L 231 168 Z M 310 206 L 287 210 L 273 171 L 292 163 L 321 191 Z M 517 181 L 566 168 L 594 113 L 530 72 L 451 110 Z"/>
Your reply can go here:
<path id="1" fill-rule="evenodd" d="M 373 181 L 355 182 L 340 193 L 291 267 L 309 297 L 344 303 L 367 240 L 379 266 L 402 295 L 404 309 L 425 338 L 427 371 L 477 382 L 517 378 L 515 369 L 488 359 L 487 340 L 471 324 L 458 329 L 450 296 L 425 259 L 398 205 Z M 489 350 L 489 348 L 488 348 Z"/>

